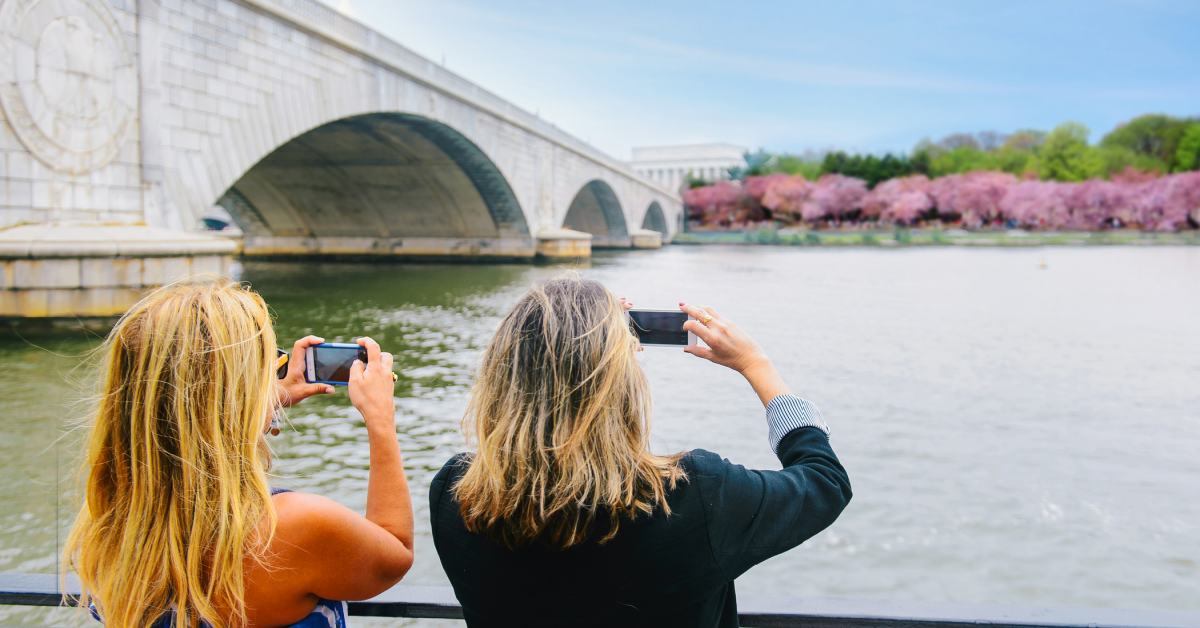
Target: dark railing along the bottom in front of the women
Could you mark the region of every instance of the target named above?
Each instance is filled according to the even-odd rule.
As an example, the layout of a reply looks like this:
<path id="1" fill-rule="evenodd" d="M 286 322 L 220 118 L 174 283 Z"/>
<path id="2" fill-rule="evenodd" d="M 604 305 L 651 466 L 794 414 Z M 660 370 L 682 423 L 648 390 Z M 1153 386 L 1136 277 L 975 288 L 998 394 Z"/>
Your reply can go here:
<path id="1" fill-rule="evenodd" d="M 0 604 L 58 606 L 58 576 L 0 573 Z M 68 582 L 68 587 L 73 585 Z M 461 620 L 450 587 L 398 585 L 350 615 Z M 1200 628 L 1200 612 L 738 596 L 742 626 L 804 628 Z"/>

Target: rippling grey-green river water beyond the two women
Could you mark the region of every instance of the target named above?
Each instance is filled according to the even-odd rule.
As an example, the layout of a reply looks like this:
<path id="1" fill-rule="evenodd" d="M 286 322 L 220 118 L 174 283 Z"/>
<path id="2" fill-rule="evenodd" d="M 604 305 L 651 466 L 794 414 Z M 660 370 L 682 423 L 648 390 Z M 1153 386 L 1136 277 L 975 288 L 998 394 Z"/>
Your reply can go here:
<path id="1" fill-rule="evenodd" d="M 275 310 L 281 341 L 368 334 L 396 354 L 418 510 L 408 584 L 446 584 L 426 486 L 464 447 L 479 352 L 532 282 L 564 268 L 238 270 Z M 580 271 L 638 307 L 713 306 L 832 426 L 853 502 L 745 574 L 743 592 L 1200 610 L 1200 247 L 672 246 L 599 253 Z M 55 570 L 79 355 L 96 345 L 31 342 L 41 348 L 0 343 L 0 572 Z M 641 355 L 656 450 L 779 468 L 739 376 L 679 349 Z M 366 433 L 344 393 L 294 408 L 292 424 L 272 439 L 277 484 L 361 510 Z M 72 617 L 0 606 L 7 626 Z"/>

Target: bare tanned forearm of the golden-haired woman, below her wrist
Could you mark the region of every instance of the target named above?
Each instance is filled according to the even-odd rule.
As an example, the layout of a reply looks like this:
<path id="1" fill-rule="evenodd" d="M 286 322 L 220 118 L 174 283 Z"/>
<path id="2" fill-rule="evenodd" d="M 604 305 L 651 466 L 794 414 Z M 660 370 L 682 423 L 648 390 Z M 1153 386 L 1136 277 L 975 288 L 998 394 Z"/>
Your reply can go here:
<path id="1" fill-rule="evenodd" d="M 396 441 L 396 429 L 367 427 L 371 471 L 367 478 L 367 519 L 413 549 L 413 501 Z"/>

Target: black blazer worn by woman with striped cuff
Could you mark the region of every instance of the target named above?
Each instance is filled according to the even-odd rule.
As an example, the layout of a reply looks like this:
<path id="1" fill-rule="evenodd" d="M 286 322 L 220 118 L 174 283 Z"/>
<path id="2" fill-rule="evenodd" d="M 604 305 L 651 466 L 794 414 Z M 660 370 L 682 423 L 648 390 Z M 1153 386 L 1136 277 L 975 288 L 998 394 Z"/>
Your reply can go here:
<path id="1" fill-rule="evenodd" d="M 608 543 L 517 551 L 467 531 L 454 485 L 460 454 L 430 486 L 433 544 L 472 628 L 588 626 L 737 627 L 733 580 L 833 524 L 850 478 L 816 427 L 779 443 L 782 471 L 754 471 L 697 449 L 688 482 L 667 496 L 671 516 L 622 521 Z M 606 525 L 598 525 L 607 527 Z"/>

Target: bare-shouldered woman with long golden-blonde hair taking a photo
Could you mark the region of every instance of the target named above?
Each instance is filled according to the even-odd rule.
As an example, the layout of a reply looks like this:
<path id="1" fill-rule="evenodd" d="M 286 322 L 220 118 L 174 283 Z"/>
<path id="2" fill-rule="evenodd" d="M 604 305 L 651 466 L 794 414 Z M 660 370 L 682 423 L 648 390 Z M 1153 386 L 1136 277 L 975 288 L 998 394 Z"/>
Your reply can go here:
<path id="1" fill-rule="evenodd" d="M 350 401 L 371 445 L 366 516 L 271 490 L 264 439 L 281 407 L 332 393 L 305 383 L 295 342 L 276 377 L 263 299 L 217 280 L 156 289 L 109 334 L 66 569 L 108 628 L 341 628 L 343 600 L 388 590 L 413 563 L 413 507 L 396 441 L 391 355 Z"/>

